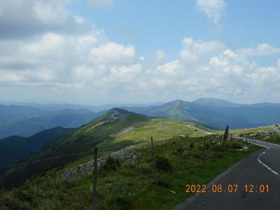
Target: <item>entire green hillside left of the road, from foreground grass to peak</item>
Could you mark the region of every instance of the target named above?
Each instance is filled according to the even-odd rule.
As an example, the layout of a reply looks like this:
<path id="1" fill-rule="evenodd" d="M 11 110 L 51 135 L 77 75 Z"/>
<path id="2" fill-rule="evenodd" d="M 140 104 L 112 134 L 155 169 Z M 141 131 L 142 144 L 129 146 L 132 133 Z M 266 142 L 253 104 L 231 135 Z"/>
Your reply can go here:
<path id="1" fill-rule="evenodd" d="M 62 138 L 49 141 L 26 160 L 83 152 L 80 155 L 10 169 L 1 183 L 28 182 L 0 192 L 3 209 L 90 209 L 92 151 L 99 147 L 98 209 L 172 209 L 190 194 L 186 184 L 206 184 L 248 153 L 245 142 L 181 120 L 148 118 L 123 109 L 103 116 Z M 151 137 L 155 139 L 158 183 L 153 182 Z M 236 151 L 248 146 L 249 151 Z M 85 153 L 84 153 L 85 152 Z"/>

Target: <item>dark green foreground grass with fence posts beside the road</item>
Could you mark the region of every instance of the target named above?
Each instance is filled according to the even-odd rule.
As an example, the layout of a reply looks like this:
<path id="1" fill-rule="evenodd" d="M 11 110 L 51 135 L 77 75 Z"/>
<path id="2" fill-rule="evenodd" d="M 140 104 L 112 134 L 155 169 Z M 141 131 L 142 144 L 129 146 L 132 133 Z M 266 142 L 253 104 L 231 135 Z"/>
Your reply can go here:
<path id="1" fill-rule="evenodd" d="M 98 168 L 97 208 L 172 209 L 190 196 L 185 192 L 186 184 L 209 183 L 259 149 L 258 146 L 232 140 L 228 141 L 222 155 L 218 146 L 221 138 L 221 135 L 155 138 L 158 188 L 153 181 L 151 144 L 149 141 L 137 144 L 134 150 L 141 155 L 136 160 L 120 162 L 113 168 Z M 248 146 L 249 151 L 230 150 L 238 146 Z M 65 167 L 73 167 L 89 159 L 87 156 Z M 2 190 L 0 209 L 91 209 L 92 176 L 64 181 L 59 175 L 63 169 L 42 174 L 15 190 Z"/>

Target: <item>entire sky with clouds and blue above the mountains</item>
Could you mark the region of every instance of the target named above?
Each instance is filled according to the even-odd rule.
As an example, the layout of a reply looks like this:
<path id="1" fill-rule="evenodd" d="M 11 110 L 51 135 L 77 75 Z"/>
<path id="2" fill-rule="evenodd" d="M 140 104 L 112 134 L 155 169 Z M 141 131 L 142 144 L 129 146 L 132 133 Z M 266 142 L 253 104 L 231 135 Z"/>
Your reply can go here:
<path id="1" fill-rule="evenodd" d="M 280 102 L 280 1 L 0 1 L 0 101 Z"/>

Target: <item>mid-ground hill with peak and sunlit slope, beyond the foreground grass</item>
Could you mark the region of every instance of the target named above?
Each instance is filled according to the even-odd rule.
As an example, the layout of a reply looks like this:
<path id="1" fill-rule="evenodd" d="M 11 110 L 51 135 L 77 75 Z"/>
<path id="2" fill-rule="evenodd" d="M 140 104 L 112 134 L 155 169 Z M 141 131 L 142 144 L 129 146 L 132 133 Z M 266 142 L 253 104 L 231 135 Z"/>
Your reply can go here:
<path id="1" fill-rule="evenodd" d="M 0 177 L 2 180 L 0 184 L 18 186 L 35 174 L 92 154 L 94 146 L 99 146 L 101 152 L 116 151 L 126 146 L 149 141 L 152 135 L 160 140 L 178 137 L 180 134 L 188 134 L 193 137 L 204 136 L 205 131 L 208 129 L 193 123 L 154 119 L 123 109 L 111 109 L 87 125 L 46 142 L 41 149 L 20 161 L 32 163 L 8 170 Z M 65 158 L 50 159 L 57 156 L 65 156 Z M 33 162 L 45 159 L 50 160 Z"/>

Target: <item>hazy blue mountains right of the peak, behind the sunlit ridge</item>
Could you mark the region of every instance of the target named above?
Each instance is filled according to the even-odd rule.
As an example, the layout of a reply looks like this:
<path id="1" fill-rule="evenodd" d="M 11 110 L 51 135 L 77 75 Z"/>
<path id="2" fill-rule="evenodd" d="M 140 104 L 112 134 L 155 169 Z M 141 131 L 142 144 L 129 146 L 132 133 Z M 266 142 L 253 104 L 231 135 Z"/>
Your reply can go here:
<path id="1" fill-rule="evenodd" d="M 258 127 L 280 123 L 280 104 L 235 104 L 202 98 L 194 102 L 176 100 L 161 106 L 123 107 L 146 116 L 177 118 L 215 129 Z"/>

